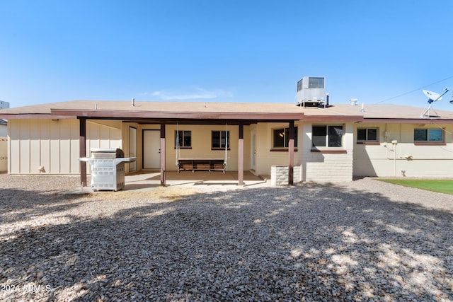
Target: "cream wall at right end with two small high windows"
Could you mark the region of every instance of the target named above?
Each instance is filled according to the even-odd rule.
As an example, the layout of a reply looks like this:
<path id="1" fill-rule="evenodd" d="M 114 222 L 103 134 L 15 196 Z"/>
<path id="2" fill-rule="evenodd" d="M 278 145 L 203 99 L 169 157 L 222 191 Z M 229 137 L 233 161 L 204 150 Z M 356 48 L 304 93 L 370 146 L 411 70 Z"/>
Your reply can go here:
<path id="1" fill-rule="evenodd" d="M 377 127 L 379 144 L 354 143 L 354 175 L 378 177 L 452 178 L 453 124 L 357 124 Z M 415 145 L 415 128 L 445 129 L 445 145 Z M 386 137 L 387 134 L 387 137 Z M 398 143 L 394 146 L 391 141 Z M 402 173 L 404 171 L 404 173 Z"/>

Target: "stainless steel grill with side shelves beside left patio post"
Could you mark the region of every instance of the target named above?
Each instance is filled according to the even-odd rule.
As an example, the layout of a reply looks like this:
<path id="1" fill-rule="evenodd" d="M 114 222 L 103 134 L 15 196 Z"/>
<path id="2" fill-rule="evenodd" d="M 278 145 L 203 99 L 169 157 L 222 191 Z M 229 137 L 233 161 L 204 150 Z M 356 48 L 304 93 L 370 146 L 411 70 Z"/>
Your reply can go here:
<path id="1" fill-rule="evenodd" d="M 125 186 L 125 163 L 132 163 L 135 157 L 125 157 L 124 151 L 114 148 L 92 148 L 91 158 L 82 157 L 91 165 L 91 189 L 121 190 Z"/>

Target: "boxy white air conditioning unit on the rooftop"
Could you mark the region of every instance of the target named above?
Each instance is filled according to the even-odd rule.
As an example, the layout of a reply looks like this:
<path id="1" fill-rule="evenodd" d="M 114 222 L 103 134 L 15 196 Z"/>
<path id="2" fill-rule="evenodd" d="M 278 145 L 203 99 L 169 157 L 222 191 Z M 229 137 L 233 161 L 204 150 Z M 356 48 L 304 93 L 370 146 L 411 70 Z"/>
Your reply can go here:
<path id="1" fill-rule="evenodd" d="M 324 104 L 326 78 L 319 76 L 304 76 L 297 82 L 296 105 L 316 106 Z"/>

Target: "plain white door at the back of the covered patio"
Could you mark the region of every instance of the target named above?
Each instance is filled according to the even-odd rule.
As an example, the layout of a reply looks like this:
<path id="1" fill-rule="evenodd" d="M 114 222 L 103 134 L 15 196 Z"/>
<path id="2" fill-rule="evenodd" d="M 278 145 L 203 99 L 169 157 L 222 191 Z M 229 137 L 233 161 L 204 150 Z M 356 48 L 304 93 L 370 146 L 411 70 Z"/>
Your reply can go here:
<path id="1" fill-rule="evenodd" d="M 143 168 L 161 168 L 161 132 L 143 130 Z"/>

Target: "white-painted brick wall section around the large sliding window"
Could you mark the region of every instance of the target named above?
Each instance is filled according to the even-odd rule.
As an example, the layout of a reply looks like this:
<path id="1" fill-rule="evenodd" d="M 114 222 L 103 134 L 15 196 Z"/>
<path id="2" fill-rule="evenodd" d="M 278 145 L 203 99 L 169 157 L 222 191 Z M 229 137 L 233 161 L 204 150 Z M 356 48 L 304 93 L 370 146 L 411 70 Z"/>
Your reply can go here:
<path id="1" fill-rule="evenodd" d="M 307 182 L 352 181 L 353 133 L 352 123 L 329 122 L 316 124 L 343 124 L 343 148 L 346 153 L 322 153 L 311 151 L 312 123 L 303 126 L 302 174 Z M 326 148 L 328 149 L 328 148 Z M 331 151 L 333 149 L 329 149 Z M 338 149 L 337 149 L 338 150 Z"/>

